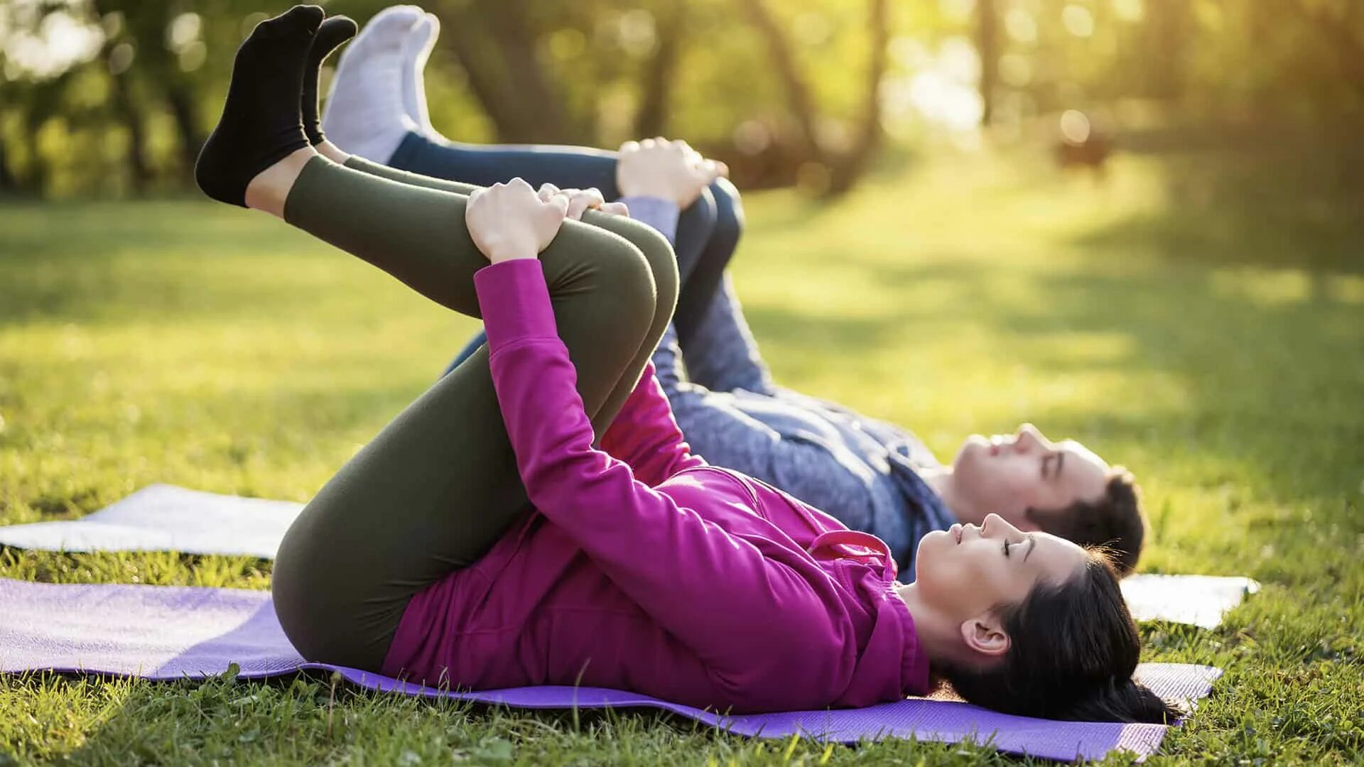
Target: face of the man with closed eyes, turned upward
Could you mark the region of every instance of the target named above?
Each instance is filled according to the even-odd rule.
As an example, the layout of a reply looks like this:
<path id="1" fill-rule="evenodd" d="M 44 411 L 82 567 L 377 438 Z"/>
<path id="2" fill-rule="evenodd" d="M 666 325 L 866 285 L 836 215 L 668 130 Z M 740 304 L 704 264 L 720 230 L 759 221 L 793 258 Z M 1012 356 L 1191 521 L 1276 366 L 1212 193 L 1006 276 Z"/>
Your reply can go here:
<path id="1" fill-rule="evenodd" d="M 967 437 L 952 461 L 967 508 L 994 512 L 1023 531 L 1038 530 L 1027 509 L 1064 509 L 1103 495 L 1109 465 L 1073 439 L 1052 442 L 1031 423 L 1012 437 Z M 974 521 L 974 520 L 964 520 Z"/>

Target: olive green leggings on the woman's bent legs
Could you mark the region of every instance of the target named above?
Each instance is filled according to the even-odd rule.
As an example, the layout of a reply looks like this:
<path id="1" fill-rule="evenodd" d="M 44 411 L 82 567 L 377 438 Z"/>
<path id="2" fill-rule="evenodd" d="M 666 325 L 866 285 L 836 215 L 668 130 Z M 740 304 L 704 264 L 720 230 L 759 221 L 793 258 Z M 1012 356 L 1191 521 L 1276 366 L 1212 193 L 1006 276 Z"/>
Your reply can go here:
<path id="1" fill-rule="evenodd" d="M 285 220 L 477 317 L 473 187 L 352 158 L 311 160 Z M 677 303 L 672 248 L 619 216 L 565 221 L 540 254 L 559 337 L 597 435 Z M 412 595 L 481 557 L 529 508 L 484 347 L 408 405 L 303 509 L 280 545 L 274 606 L 310 661 L 379 670 Z"/>

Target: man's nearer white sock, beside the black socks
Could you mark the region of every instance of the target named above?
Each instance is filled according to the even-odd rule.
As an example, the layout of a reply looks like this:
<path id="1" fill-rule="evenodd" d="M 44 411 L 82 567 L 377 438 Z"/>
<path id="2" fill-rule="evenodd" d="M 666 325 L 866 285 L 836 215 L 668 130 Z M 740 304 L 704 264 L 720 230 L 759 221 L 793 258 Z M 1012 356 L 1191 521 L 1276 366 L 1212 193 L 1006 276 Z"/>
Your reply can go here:
<path id="1" fill-rule="evenodd" d="M 387 162 L 416 126 L 402 108 L 402 44 L 426 14 L 385 8 L 341 52 L 322 112 L 322 131 L 342 151 Z"/>

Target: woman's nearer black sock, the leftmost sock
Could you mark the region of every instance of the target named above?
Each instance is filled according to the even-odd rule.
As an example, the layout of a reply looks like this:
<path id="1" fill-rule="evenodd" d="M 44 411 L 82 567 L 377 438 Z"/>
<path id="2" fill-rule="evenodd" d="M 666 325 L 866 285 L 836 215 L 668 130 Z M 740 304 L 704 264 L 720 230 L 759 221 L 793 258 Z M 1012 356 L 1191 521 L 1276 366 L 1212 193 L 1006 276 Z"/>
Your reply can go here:
<path id="1" fill-rule="evenodd" d="M 295 5 L 256 25 L 237 49 L 222 117 L 194 165 L 203 194 L 246 207 L 251 179 L 308 146 L 299 104 L 322 16 L 316 5 Z"/>

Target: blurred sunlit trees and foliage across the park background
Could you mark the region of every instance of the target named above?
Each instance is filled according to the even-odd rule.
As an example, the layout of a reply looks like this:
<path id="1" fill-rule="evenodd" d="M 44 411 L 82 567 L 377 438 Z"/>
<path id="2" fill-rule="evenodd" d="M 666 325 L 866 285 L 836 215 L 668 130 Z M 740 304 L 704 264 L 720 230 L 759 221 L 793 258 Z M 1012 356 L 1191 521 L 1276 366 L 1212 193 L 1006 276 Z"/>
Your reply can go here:
<path id="1" fill-rule="evenodd" d="M 386 4 L 325 3 L 361 23 Z M 184 188 L 237 44 L 288 5 L 0 3 L 0 191 Z M 1288 124 L 1322 143 L 1364 124 L 1359 0 L 424 7 L 443 22 L 427 85 L 434 121 L 451 138 L 612 146 L 678 135 L 728 160 L 747 186 L 828 186 L 829 168 L 884 134 L 915 142 L 988 123 L 994 141 L 1054 141 L 1065 109 L 1084 111 L 1105 135 Z"/>

